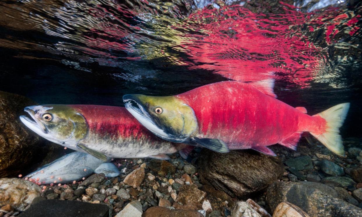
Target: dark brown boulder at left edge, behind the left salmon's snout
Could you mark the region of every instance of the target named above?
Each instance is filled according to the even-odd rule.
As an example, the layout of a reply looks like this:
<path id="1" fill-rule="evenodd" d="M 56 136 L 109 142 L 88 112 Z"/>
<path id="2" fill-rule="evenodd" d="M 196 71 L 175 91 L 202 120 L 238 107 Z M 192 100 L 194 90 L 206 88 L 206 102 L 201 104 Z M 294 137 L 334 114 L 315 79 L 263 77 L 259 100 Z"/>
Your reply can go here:
<path id="1" fill-rule="evenodd" d="M 19 116 L 30 105 L 36 103 L 0 91 L 0 178 L 28 174 L 65 154 L 62 146 L 41 138 L 21 123 Z"/>

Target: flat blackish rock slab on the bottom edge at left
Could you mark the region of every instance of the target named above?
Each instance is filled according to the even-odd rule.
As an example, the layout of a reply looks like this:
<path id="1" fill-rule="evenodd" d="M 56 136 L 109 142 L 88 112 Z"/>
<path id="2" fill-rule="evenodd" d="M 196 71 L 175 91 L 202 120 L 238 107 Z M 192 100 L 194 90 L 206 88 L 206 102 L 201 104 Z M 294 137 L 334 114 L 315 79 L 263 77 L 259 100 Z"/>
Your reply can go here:
<path id="1" fill-rule="evenodd" d="M 31 205 L 19 217 L 108 217 L 109 207 L 104 204 L 91 204 L 70 200 L 42 200 Z"/>

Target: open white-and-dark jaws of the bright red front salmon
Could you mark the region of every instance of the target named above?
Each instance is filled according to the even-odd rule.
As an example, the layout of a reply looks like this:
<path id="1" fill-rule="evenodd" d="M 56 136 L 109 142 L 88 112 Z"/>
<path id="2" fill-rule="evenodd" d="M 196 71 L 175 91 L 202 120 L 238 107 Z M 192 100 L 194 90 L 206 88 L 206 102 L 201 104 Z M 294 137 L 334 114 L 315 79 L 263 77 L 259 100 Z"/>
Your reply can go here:
<path id="1" fill-rule="evenodd" d="M 152 116 L 145 110 L 135 95 L 127 94 L 123 96 L 126 109 L 148 130 L 155 135 L 173 142 L 180 142 L 174 139 L 174 136 L 165 132 L 165 129 L 157 124 Z"/>

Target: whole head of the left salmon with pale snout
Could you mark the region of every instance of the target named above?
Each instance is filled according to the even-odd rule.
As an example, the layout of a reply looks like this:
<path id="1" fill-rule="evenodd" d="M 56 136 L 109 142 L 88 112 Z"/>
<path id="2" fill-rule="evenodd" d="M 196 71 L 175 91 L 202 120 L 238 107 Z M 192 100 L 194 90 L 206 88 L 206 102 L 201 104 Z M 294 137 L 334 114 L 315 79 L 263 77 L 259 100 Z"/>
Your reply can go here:
<path id="1" fill-rule="evenodd" d="M 45 139 L 72 148 L 88 132 L 83 115 L 69 105 L 41 105 L 24 108 L 30 118 L 22 115 L 20 120 Z"/>

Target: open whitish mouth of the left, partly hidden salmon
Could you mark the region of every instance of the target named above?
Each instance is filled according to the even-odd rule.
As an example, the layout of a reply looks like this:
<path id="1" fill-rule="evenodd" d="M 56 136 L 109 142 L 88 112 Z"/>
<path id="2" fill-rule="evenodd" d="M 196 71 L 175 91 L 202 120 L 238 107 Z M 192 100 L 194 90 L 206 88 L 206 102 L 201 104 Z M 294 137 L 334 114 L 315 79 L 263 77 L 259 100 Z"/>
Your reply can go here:
<path id="1" fill-rule="evenodd" d="M 35 107 L 36 106 L 25 107 L 24 111 L 29 114 L 31 119 L 28 118 L 25 115 L 21 115 L 20 120 L 21 120 L 22 123 L 25 124 L 26 127 L 31 129 L 32 131 L 34 131 L 38 135 L 43 136 L 45 134 L 48 134 L 49 131 L 48 131 L 48 129 L 46 128 L 46 126 L 43 123 L 41 123 L 40 121 L 38 121 L 35 118 L 35 115 L 37 115 L 37 112 L 38 112 L 38 110 Z"/>

